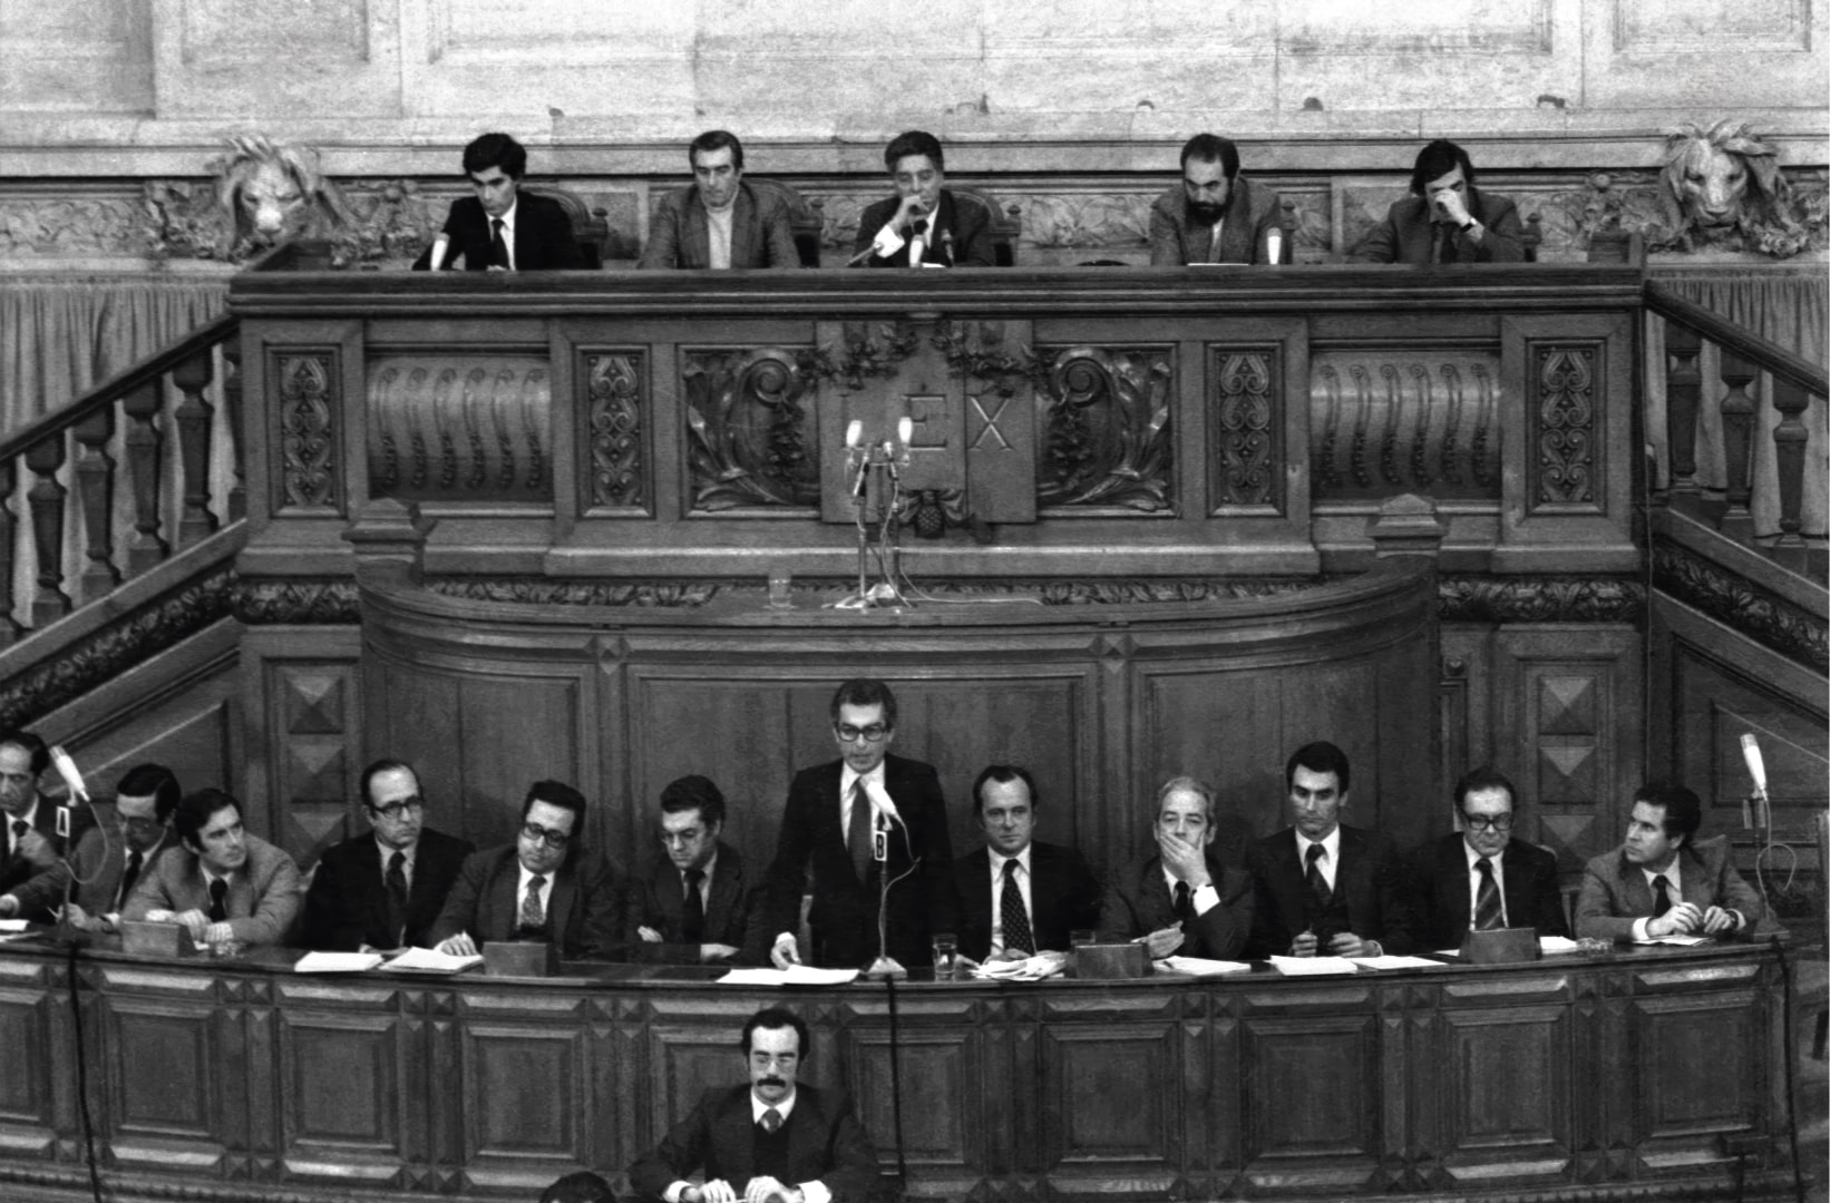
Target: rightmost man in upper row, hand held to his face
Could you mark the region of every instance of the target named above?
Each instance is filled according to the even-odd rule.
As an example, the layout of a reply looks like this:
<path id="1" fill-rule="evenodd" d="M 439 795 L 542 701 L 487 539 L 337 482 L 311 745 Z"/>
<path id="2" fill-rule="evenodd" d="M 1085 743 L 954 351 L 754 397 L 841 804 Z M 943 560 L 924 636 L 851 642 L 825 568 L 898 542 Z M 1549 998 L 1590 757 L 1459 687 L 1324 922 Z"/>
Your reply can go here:
<path id="1" fill-rule="evenodd" d="M 1502 196 L 1475 188 L 1475 165 L 1448 139 L 1424 146 L 1411 168 L 1411 196 L 1360 240 L 1362 263 L 1521 263 L 1524 227 Z"/>

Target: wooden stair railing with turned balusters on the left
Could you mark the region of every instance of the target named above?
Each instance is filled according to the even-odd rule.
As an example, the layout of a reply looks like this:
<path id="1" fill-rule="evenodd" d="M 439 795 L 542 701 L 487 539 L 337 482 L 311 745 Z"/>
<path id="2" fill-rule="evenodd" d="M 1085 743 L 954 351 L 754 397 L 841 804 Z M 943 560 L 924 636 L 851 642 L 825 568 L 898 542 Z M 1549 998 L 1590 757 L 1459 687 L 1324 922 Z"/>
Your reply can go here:
<path id="1" fill-rule="evenodd" d="M 218 318 L 0 439 L 0 647 L 201 543 L 223 517 L 243 516 L 238 331 L 238 318 Z M 212 388 L 218 349 L 225 371 Z M 218 474 L 232 479 L 227 497 L 212 497 L 210 484 L 218 400 L 232 457 L 232 477 Z M 167 470 L 172 431 L 176 474 Z M 22 481 L 26 516 L 15 512 Z M 123 492 L 128 505 L 117 506 Z M 22 561 L 35 563 L 24 607 L 15 592 Z M 71 574 L 71 561 L 81 570 Z"/>

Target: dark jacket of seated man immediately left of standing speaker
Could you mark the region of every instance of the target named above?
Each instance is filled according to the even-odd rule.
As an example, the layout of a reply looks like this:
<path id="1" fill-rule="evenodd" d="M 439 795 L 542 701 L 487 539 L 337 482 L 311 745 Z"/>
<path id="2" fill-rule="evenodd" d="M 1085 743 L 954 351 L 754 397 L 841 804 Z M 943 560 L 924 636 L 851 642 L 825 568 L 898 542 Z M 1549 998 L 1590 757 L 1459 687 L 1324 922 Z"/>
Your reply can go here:
<path id="1" fill-rule="evenodd" d="M 756 965 L 769 960 L 772 931 L 763 931 L 769 916 L 763 907 L 763 883 L 756 879 L 743 854 L 717 841 L 717 859 L 712 861 L 712 889 L 705 907 L 705 934 L 699 943 L 686 943 L 681 925 L 686 920 L 686 889 L 681 870 L 664 856 L 642 865 L 630 881 L 630 901 L 624 910 L 622 943 L 630 960 L 690 965 L 699 962 L 699 943 L 730 943 L 737 954 L 734 963 Z M 639 927 L 653 927 L 662 942 L 642 940 Z"/>

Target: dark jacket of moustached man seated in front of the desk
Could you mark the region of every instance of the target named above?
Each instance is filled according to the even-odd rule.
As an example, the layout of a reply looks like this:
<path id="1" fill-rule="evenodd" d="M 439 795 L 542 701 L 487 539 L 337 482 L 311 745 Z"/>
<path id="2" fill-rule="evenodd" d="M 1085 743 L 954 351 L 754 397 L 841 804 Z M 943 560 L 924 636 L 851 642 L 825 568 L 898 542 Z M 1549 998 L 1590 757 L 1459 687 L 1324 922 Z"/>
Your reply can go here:
<path id="1" fill-rule="evenodd" d="M 851 1115 L 851 1102 L 805 1082 L 794 1084 L 789 1113 L 789 1179 L 794 1187 L 825 1183 L 834 1203 L 860 1203 L 877 1185 L 877 1150 L 869 1134 Z M 642 1199 L 659 1199 L 675 1181 L 705 1170 L 705 1181 L 725 1179 L 743 1198 L 743 1185 L 756 1176 L 756 1121 L 750 1086 L 714 1086 L 692 1115 L 673 1124 L 653 1152 L 630 1166 L 630 1187 Z"/>

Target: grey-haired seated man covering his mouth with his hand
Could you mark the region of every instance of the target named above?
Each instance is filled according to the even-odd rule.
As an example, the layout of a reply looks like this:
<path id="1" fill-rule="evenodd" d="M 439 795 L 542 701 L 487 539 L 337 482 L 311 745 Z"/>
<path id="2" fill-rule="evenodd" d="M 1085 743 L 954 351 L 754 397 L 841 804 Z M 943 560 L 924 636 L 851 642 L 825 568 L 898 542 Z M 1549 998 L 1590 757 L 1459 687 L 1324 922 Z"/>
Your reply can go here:
<path id="1" fill-rule="evenodd" d="M 1151 960 L 1233 960 L 1252 934 L 1252 878 L 1213 857 L 1213 786 L 1171 777 L 1157 790 L 1157 852 L 1105 885 L 1102 942 L 1144 940 Z"/>

